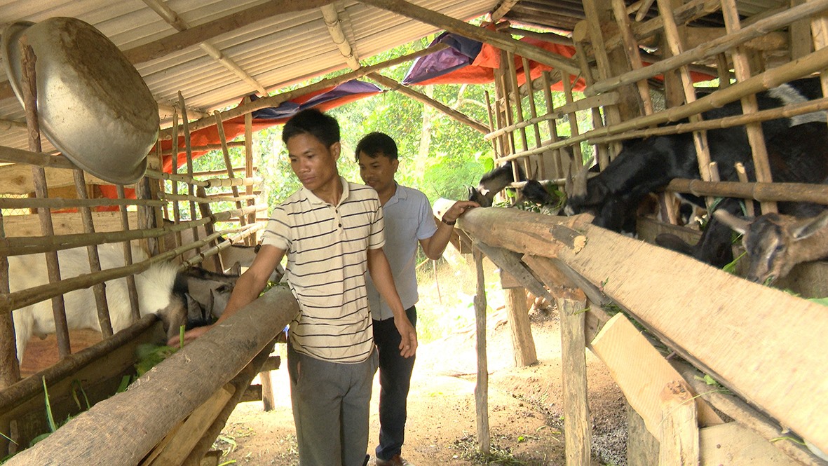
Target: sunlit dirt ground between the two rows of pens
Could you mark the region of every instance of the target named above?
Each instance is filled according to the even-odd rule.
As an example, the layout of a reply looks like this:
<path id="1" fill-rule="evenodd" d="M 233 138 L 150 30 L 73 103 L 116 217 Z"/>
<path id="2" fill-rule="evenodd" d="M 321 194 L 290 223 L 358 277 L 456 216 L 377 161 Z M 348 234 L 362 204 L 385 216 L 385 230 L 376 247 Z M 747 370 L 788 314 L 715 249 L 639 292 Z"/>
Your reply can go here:
<path id="1" fill-rule="evenodd" d="M 421 305 L 429 299 L 423 295 L 421 286 Z M 561 341 L 556 311 L 532 314 L 539 362 L 515 368 L 505 310 L 495 309 L 489 315 L 487 332 L 492 454 L 484 459 L 477 453 L 474 326 L 466 325 L 422 344 L 417 351 L 408 396 L 407 439 L 402 451 L 402 456 L 412 464 L 565 464 Z M 278 345 L 277 351 L 282 353 L 283 361 L 283 368 L 272 372 L 277 406 L 270 412 L 263 412 L 259 402 L 243 403 L 236 408 L 214 445 L 227 452 L 222 458 L 224 464 L 298 464 L 284 345 Z M 623 395 L 603 364 L 589 352 L 587 370 L 594 425 L 593 464 L 624 465 L 627 426 Z M 378 439 L 377 409 L 374 396 L 368 442 L 370 464 Z"/>

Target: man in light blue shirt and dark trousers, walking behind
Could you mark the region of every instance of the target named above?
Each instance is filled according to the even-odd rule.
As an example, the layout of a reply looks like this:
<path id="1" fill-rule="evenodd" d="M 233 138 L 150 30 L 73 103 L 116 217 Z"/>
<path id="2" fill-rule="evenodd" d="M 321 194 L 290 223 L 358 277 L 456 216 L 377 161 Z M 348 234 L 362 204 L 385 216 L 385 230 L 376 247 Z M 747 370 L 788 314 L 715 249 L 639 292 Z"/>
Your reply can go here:
<path id="1" fill-rule="evenodd" d="M 418 190 L 397 185 L 397 144 L 382 132 L 372 132 L 359 141 L 356 149 L 359 176 L 379 195 L 385 219 L 385 246 L 394 285 L 416 329 L 415 306 L 419 296 L 416 286 L 416 248 L 419 244 L 426 257 L 438 259 L 449 243 L 454 224 L 461 214 L 477 203 L 458 201 L 440 222 L 431 214 L 431 204 Z M 402 444 L 405 440 L 406 399 L 414 358 L 400 356 L 400 334 L 394 327 L 393 314 L 368 276 L 368 307 L 373 319 L 373 339 L 379 349 L 379 445 L 377 466 L 404 466 Z"/>

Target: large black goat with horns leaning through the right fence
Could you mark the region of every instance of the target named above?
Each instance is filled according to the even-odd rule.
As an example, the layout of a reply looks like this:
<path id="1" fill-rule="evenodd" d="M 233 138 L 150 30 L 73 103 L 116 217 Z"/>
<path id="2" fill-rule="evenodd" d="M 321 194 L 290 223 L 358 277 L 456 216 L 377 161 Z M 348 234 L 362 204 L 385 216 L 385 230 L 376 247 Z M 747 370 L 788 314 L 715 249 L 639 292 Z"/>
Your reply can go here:
<path id="1" fill-rule="evenodd" d="M 760 109 L 821 97 L 817 79 L 798 79 L 792 83 L 757 94 Z M 722 118 L 741 113 L 741 105 L 729 103 L 703 113 L 705 119 Z M 802 115 L 797 119 L 777 118 L 762 123 L 763 134 L 772 157 L 772 174 L 776 181 L 819 182 L 828 175 L 828 165 L 821 149 L 826 147 L 826 125 L 823 113 Z M 823 123 L 808 123 L 821 120 Z M 738 180 L 734 164 L 741 161 L 753 175 L 753 160 L 747 133 L 742 127 L 715 129 L 707 132 L 710 158 L 720 167 L 722 180 Z M 793 147 L 789 145 L 793 144 Z M 788 160 L 788 159 L 798 160 Z M 612 163 L 599 175 L 587 180 L 587 167 L 575 176 L 568 176 L 566 213 L 595 214 L 593 223 L 619 232 L 634 231 L 634 213 L 645 195 L 666 186 L 674 178 L 698 178 L 696 148 L 690 133 L 650 137 L 626 142 Z M 700 202 L 700 199 L 688 200 Z M 729 210 L 735 212 L 735 204 Z M 718 233 L 727 231 L 719 228 Z M 706 232 L 705 232 L 706 233 Z M 722 266 L 732 260 L 729 248 L 721 248 L 720 234 L 713 243 L 700 242 L 694 257 Z"/>

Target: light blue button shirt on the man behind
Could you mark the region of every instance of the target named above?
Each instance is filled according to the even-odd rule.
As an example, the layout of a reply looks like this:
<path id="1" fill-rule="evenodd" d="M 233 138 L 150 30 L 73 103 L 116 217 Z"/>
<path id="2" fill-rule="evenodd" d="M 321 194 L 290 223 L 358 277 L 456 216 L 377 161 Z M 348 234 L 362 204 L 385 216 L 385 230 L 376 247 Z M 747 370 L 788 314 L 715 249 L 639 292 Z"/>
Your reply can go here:
<path id="1" fill-rule="evenodd" d="M 394 285 L 402 300 L 402 309 L 416 305 L 420 296 L 416 290 L 416 250 L 421 239 L 431 238 L 437 231 L 431 204 L 418 190 L 397 185 L 397 192 L 383 205 L 385 218 L 385 246 Z M 391 319 L 394 315 L 366 275 L 368 305 L 374 320 Z"/>

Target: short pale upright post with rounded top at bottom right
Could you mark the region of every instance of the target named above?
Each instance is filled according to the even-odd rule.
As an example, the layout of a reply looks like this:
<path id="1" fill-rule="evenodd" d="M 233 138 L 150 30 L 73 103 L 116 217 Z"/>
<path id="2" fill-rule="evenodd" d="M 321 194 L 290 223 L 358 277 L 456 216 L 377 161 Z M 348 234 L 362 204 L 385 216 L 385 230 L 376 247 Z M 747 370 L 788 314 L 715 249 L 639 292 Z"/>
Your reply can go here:
<path id="1" fill-rule="evenodd" d="M 699 422 L 690 387 L 684 381 L 668 382 L 660 400 L 659 466 L 696 466 L 699 464 Z"/>

